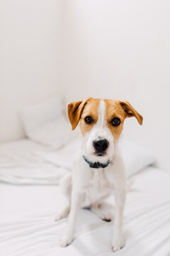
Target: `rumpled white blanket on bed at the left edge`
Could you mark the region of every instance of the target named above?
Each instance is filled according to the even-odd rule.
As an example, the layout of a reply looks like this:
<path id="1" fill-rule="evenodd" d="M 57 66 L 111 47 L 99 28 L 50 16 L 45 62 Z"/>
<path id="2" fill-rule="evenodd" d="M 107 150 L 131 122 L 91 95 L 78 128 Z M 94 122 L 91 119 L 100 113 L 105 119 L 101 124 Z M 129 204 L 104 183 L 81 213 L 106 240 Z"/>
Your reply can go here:
<path id="1" fill-rule="evenodd" d="M 58 184 L 68 170 L 52 164 L 34 151 L 51 151 L 50 147 L 22 139 L 0 146 L 0 181 L 13 184 Z"/>

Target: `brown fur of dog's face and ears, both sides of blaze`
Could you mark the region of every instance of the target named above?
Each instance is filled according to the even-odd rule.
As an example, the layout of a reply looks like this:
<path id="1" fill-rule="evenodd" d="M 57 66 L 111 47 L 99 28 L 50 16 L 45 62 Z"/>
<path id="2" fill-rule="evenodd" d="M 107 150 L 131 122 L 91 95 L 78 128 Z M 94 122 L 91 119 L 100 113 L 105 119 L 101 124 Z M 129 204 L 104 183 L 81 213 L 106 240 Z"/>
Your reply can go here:
<path id="1" fill-rule="evenodd" d="M 98 106 L 100 99 L 89 98 L 85 101 L 71 102 L 68 105 L 68 117 L 72 124 L 72 129 L 77 127 L 80 120 L 81 132 L 85 135 L 90 132 L 98 121 Z M 126 117 L 136 117 L 137 121 L 142 124 L 142 116 L 127 101 L 104 100 L 106 105 L 106 125 L 111 130 L 115 140 L 120 137 L 123 130 L 123 122 Z M 104 114 L 104 113 L 103 113 Z M 89 119 L 91 122 L 87 122 Z M 120 119 L 120 124 L 113 125 L 113 119 Z"/>

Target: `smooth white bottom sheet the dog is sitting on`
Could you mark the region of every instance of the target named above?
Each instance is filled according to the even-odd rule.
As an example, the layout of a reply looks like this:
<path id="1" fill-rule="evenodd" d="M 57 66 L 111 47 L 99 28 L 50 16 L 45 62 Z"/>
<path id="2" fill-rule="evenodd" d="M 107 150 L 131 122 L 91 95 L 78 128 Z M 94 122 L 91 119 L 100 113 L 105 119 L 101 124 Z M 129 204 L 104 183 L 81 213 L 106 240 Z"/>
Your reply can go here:
<path id="1" fill-rule="evenodd" d="M 125 247 L 113 254 L 113 223 L 81 210 L 76 239 L 67 248 L 59 240 L 67 220 L 55 222 L 63 197 L 58 186 L 0 185 L 1 256 L 169 256 L 170 174 L 148 167 L 135 176 L 125 207 Z M 113 198 L 109 199 L 112 202 Z M 110 208 L 111 210 L 112 208 Z"/>

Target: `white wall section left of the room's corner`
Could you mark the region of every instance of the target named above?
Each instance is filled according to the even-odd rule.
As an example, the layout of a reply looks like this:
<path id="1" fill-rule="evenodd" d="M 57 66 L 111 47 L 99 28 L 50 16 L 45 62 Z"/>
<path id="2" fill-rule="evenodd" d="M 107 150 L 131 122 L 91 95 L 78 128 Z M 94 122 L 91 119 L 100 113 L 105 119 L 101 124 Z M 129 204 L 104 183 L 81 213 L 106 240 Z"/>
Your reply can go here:
<path id="1" fill-rule="evenodd" d="M 0 1 L 0 142 L 24 136 L 18 110 L 61 91 L 62 0 Z"/>

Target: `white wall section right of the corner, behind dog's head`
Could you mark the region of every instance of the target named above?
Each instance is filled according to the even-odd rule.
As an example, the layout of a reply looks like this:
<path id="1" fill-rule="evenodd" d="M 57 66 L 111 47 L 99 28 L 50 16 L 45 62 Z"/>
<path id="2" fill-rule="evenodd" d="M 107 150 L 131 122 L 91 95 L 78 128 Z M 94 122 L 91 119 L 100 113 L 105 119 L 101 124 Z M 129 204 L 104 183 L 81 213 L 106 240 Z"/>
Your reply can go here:
<path id="1" fill-rule="evenodd" d="M 72 0 L 64 8 L 67 100 L 129 100 L 144 117 L 124 136 L 156 152 L 169 168 L 170 2 Z"/>

